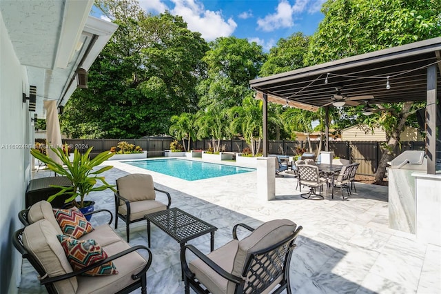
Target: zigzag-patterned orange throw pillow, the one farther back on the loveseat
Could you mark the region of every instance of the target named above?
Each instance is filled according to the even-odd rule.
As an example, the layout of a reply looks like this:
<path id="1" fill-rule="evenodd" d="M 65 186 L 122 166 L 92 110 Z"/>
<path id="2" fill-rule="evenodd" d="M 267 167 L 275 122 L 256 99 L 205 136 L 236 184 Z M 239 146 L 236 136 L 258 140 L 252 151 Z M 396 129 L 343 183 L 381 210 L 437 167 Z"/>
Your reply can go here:
<path id="1" fill-rule="evenodd" d="M 55 219 L 65 235 L 78 239 L 82 235 L 94 231 L 92 224 L 85 219 L 83 213 L 76 208 L 54 209 Z"/>

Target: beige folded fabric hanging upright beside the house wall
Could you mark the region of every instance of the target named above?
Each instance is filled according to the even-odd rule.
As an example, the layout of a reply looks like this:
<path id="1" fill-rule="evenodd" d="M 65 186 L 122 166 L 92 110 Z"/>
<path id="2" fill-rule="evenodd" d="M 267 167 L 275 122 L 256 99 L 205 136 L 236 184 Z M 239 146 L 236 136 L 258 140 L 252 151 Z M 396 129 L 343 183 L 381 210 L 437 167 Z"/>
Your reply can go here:
<path id="1" fill-rule="evenodd" d="M 58 119 L 57 101 L 44 101 L 44 108 L 46 109 L 46 141 L 48 146 L 54 148 L 62 147 L 60 121 Z M 48 148 L 48 155 L 50 158 L 57 161 L 59 164 L 63 164 L 61 159 L 54 154 L 50 148 Z"/>

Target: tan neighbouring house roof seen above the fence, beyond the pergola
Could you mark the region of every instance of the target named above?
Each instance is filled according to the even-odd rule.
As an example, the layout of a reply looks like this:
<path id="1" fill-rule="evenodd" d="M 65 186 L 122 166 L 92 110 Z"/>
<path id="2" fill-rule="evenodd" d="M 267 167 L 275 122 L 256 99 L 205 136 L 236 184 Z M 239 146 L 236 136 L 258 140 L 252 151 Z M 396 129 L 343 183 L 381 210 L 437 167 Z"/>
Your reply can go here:
<path id="1" fill-rule="evenodd" d="M 351 126 L 342 130 L 342 141 L 386 141 L 386 132 L 382 128 L 374 128 L 373 133 L 367 126 Z M 404 127 L 400 134 L 401 141 L 422 141 L 418 128 Z"/>

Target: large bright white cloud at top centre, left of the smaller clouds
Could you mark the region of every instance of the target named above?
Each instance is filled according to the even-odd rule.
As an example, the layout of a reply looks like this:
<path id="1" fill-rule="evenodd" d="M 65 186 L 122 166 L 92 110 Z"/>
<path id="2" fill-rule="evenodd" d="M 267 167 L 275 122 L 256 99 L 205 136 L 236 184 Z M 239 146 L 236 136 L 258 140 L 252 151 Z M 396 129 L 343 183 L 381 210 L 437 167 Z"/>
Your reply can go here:
<path id="1" fill-rule="evenodd" d="M 175 4 L 172 14 L 180 15 L 187 22 L 189 30 L 201 32 L 207 41 L 217 37 L 227 37 L 236 30 L 237 23 L 229 18 L 223 19 L 221 11 L 205 10 L 197 0 L 172 0 Z"/>

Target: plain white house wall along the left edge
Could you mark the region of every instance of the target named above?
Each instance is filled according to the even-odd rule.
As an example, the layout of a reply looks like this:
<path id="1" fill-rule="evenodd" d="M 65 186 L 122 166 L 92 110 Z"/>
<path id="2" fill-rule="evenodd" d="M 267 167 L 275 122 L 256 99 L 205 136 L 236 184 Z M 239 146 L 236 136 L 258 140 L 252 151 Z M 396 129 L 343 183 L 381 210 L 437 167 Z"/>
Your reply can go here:
<path id="1" fill-rule="evenodd" d="M 21 255 L 12 233 L 21 228 L 17 214 L 24 208 L 30 180 L 30 112 L 21 101 L 23 70 L 0 13 L 0 293 L 17 293 Z"/>

